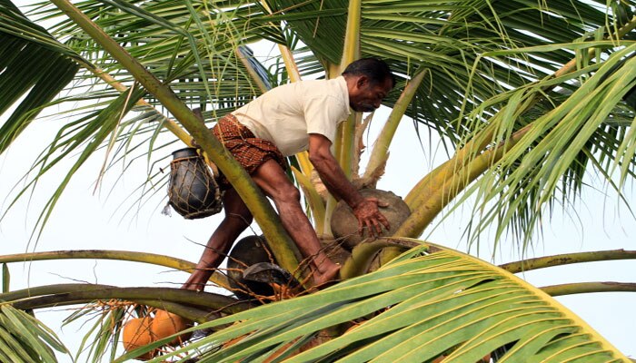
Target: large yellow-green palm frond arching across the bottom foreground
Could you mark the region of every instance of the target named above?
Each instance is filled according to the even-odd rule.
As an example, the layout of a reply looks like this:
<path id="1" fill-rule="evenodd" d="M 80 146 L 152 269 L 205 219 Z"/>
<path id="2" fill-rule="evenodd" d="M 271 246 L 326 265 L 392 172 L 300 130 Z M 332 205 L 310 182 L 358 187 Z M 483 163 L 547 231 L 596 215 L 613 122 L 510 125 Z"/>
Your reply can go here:
<path id="1" fill-rule="evenodd" d="M 482 260 L 428 247 L 310 296 L 203 324 L 226 328 L 181 352 L 208 351 L 200 362 L 261 362 L 274 354 L 280 357 L 267 361 L 427 362 L 443 354 L 444 361 L 475 362 L 498 349 L 501 361 L 627 361 L 541 290 Z M 358 326 L 298 354 L 353 321 Z"/>

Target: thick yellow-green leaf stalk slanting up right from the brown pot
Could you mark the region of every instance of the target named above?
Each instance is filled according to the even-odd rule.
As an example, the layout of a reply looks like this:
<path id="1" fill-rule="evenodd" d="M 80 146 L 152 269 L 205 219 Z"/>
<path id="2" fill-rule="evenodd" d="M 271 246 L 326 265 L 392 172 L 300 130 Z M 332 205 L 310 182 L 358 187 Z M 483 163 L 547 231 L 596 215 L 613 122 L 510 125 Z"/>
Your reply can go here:
<path id="1" fill-rule="evenodd" d="M 505 142 L 500 142 L 496 147 L 482 152 L 460 170 L 449 173 L 449 170 L 442 168 L 435 177 L 442 179 L 443 182 L 441 184 L 431 183 L 427 187 L 427 193 L 422 195 L 420 204 L 393 235 L 403 237 L 420 236 L 422 231 L 460 191 L 479 178 L 494 162 L 502 159 L 505 152 L 509 151 L 531 129 L 532 123 L 514 132 Z"/>

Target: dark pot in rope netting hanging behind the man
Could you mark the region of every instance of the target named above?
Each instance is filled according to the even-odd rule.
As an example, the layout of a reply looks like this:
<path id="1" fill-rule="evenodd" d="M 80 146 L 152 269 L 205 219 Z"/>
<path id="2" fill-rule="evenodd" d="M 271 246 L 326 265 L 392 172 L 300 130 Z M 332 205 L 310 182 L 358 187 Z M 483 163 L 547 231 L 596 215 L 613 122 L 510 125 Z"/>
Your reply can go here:
<path id="1" fill-rule="evenodd" d="M 188 220 L 205 218 L 223 209 L 221 191 L 196 149 L 173 152 L 168 200 L 174 211 Z"/>

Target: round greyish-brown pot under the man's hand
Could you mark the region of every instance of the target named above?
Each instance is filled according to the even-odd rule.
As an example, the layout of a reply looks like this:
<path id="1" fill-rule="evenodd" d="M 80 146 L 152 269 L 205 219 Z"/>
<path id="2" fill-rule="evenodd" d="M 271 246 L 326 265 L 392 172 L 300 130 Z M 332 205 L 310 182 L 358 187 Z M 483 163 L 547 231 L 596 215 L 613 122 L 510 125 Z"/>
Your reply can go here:
<path id="1" fill-rule="evenodd" d="M 402 198 L 393 194 L 392 191 L 381 191 L 379 189 L 363 189 L 360 191 L 364 198 L 377 198 L 380 203 L 388 204 L 387 207 L 379 206 L 379 210 L 391 224 L 391 229 L 386 231 L 383 227 L 383 236 L 392 236 L 395 231 L 400 228 L 402 223 L 411 215 L 409 206 L 406 205 Z M 339 201 L 332 214 L 332 232 L 333 236 L 343 239 L 343 247 L 353 249 L 358 243 L 366 240 L 373 235 L 369 235 L 369 231 L 363 230 L 361 236 L 358 232 L 358 219 L 353 215 L 353 211 L 344 201 Z"/>

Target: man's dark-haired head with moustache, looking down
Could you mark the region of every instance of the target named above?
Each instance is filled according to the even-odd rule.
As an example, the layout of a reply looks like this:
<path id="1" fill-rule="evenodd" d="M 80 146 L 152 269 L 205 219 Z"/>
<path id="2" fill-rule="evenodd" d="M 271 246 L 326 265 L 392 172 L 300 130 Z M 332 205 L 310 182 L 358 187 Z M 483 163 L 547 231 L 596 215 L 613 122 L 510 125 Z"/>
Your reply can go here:
<path id="1" fill-rule="evenodd" d="M 376 58 L 359 59 L 343 72 L 353 111 L 372 112 L 395 85 L 389 65 Z"/>

